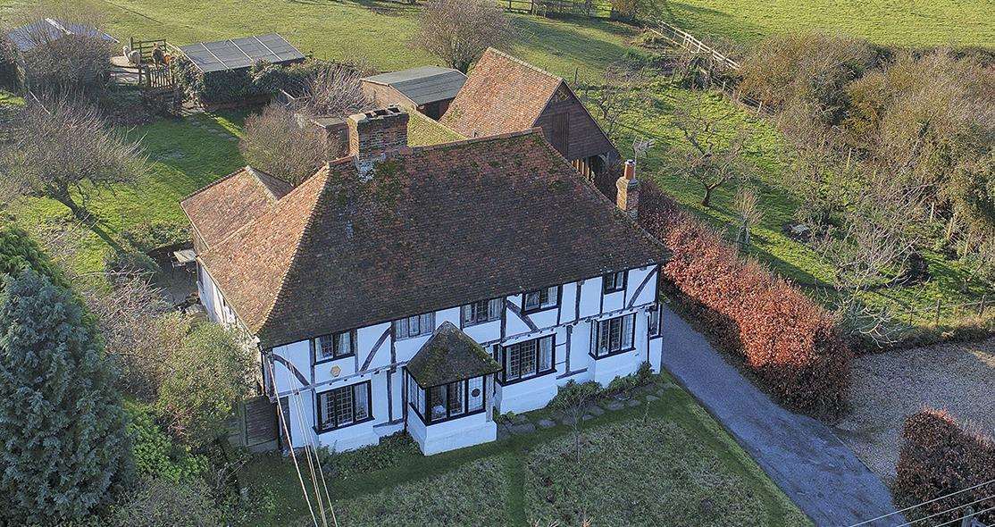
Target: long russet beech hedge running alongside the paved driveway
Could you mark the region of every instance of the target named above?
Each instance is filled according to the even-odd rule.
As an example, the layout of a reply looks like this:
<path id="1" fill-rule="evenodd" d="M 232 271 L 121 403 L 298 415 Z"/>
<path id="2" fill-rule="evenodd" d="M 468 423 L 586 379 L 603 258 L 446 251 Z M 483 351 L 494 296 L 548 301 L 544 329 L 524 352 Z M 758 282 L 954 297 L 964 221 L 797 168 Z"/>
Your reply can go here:
<path id="1" fill-rule="evenodd" d="M 782 404 L 818 417 L 846 408 L 849 346 L 833 316 L 785 279 L 743 258 L 720 234 L 643 184 L 640 224 L 673 253 L 664 276 L 711 315 L 700 317 Z"/>

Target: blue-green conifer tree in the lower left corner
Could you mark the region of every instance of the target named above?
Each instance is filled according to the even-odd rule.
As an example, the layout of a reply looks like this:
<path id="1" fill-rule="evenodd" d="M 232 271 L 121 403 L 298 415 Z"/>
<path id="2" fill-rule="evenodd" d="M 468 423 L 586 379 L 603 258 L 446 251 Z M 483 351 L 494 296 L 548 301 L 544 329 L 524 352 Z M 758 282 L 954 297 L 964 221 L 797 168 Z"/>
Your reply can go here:
<path id="1" fill-rule="evenodd" d="M 115 373 L 66 289 L 26 269 L 0 291 L 0 524 L 82 519 L 130 475 Z"/>

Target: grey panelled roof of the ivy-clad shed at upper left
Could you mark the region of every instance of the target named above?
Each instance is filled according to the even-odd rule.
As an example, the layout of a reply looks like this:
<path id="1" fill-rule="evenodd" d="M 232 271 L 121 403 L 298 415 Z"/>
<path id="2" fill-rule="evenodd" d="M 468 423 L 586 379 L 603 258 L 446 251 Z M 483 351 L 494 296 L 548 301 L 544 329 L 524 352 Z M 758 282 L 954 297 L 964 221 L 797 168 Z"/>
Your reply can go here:
<path id="1" fill-rule="evenodd" d="M 277 33 L 189 44 L 180 46 L 180 51 L 205 74 L 241 70 L 259 61 L 284 64 L 304 59 L 304 55 L 293 44 Z"/>

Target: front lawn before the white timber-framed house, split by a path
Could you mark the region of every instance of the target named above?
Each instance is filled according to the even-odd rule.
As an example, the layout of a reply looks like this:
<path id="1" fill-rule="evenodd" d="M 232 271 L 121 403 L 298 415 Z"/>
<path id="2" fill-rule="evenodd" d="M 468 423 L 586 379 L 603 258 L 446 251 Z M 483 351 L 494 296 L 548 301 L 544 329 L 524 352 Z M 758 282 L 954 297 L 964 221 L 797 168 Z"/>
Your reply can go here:
<path id="1" fill-rule="evenodd" d="M 663 383 L 658 401 L 585 422 L 582 468 L 564 426 L 430 457 L 379 450 L 367 457 L 382 467 L 329 482 L 335 514 L 343 525 L 565 527 L 581 511 L 604 526 L 810 525 L 687 392 Z M 259 457 L 243 474 L 255 499 L 280 504 L 246 525 L 307 514 L 286 459 Z"/>

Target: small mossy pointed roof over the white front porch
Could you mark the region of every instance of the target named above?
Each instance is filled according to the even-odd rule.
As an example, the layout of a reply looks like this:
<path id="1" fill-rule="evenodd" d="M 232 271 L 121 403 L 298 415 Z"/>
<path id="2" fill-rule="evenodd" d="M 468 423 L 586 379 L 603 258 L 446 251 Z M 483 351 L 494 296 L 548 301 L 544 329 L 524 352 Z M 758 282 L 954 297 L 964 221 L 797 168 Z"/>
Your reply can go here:
<path id="1" fill-rule="evenodd" d="M 452 322 L 443 322 L 408 362 L 418 386 L 431 388 L 500 371 L 500 365 Z"/>

